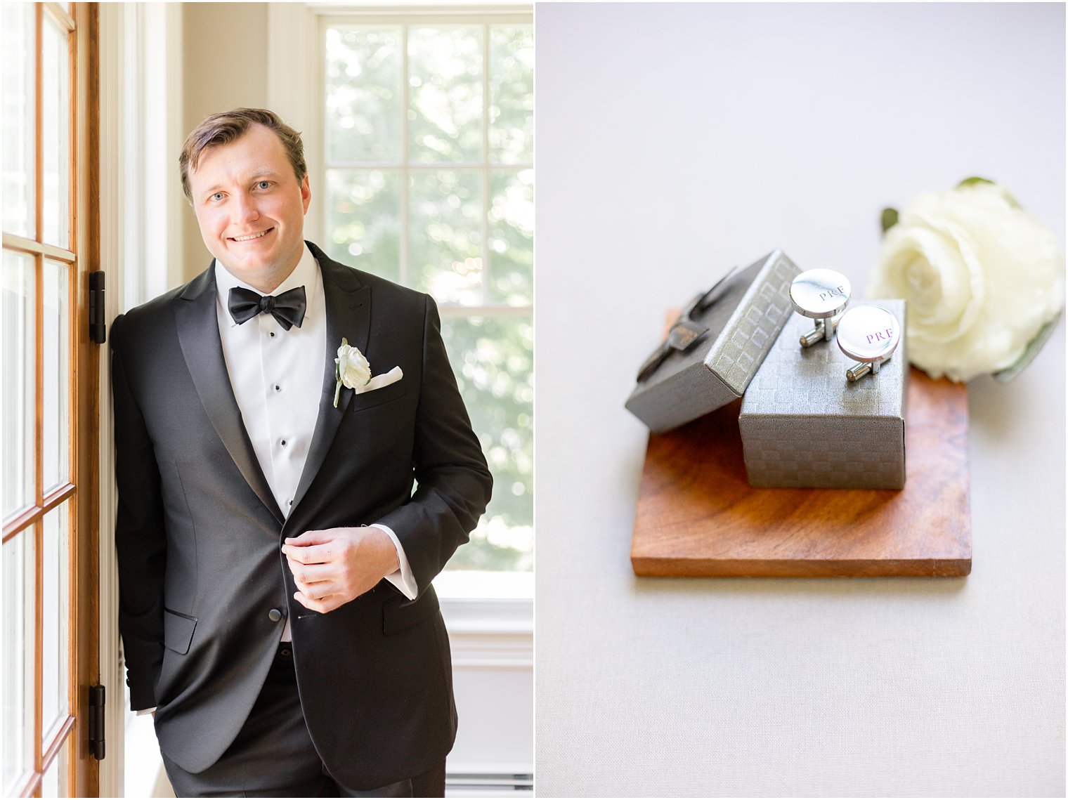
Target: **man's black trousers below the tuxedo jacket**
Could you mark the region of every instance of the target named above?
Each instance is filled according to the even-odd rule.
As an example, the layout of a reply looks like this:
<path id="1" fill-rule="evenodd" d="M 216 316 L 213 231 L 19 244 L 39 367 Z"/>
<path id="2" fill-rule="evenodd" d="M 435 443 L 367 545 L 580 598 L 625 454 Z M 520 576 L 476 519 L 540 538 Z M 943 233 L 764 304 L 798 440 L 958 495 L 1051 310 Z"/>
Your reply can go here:
<path id="1" fill-rule="evenodd" d="M 445 763 L 370 791 L 342 786 L 312 744 L 297 693 L 288 642 L 279 645 L 264 688 L 234 743 L 218 762 L 192 773 L 163 755 L 177 797 L 444 797 Z"/>

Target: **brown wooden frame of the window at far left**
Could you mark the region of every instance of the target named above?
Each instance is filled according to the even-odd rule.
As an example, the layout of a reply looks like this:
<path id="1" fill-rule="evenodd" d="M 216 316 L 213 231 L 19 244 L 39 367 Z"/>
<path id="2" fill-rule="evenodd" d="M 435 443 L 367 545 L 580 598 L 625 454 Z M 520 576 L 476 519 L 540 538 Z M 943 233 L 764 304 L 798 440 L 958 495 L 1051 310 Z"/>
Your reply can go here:
<path id="1" fill-rule="evenodd" d="M 56 2 L 36 3 L 34 14 L 34 238 L 3 233 L 4 250 L 30 255 L 34 263 L 34 496 L 33 504 L 3 524 L 3 543 L 17 535 L 32 537 L 33 566 L 33 769 L 5 789 L 19 797 L 41 797 L 43 782 L 66 744 L 66 789 L 72 797 L 98 794 L 98 766 L 89 754 L 89 689 L 99 679 L 96 616 L 97 543 L 99 538 L 97 468 L 99 346 L 89 341 L 88 274 L 99 261 L 98 208 L 93 190 L 98 186 L 98 52 L 95 4 L 74 3 L 68 12 Z M 68 247 L 44 239 L 44 26 L 48 14 L 67 34 Z M 83 179 L 88 176 L 88 179 Z M 81 438 L 67 440 L 67 481 L 44 486 L 44 265 L 45 260 L 66 264 L 67 341 L 69 354 L 67 424 Z M 84 443 L 90 446 L 83 446 Z M 50 731 L 43 731 L 44 696 L 44 520 L 70 501 L 67 517 L 67 716 Z M 62 612 L 61 612 L 62 613 Z M 51 721 L 49 721 L 51 722 Z M 50 734 L 48 741 L 43 741 Z"/>

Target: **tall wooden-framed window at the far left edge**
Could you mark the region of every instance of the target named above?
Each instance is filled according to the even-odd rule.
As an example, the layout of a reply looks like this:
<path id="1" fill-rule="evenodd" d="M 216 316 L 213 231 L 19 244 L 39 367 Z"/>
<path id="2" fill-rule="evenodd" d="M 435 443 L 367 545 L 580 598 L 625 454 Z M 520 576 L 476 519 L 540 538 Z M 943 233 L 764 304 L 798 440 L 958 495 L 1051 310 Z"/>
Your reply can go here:
<path id="1" fill-rule="evenodd" d="M 5 3 L 0 281 L 4 797 L 95 791 L 81 712 L 96 677 L 98 354 L 76 292 L 96 245 L 88 3 Z M 78 694 L 75 692 L 78 691 Z"/>

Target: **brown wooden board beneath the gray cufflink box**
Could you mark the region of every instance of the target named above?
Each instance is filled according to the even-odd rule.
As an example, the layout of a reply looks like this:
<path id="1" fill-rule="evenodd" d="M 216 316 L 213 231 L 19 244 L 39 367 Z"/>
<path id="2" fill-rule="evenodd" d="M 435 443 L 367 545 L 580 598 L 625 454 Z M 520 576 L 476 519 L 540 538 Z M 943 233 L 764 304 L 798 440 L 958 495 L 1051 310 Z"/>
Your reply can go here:
<path id="1" fill-rule="evenodd" d="M 900 491 L 753 488 L 738 430 L 740 399 L 650 434 L 630 551 L 634 574 L 968 575 L 967 389 L 912 370 L 906 402 Z"/>

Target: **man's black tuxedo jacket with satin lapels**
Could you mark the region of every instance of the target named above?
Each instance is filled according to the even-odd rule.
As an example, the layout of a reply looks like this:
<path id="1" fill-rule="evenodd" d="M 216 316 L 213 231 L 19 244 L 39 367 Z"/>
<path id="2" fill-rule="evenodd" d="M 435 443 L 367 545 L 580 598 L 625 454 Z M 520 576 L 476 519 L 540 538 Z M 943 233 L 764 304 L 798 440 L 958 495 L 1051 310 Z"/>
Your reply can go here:
<path id="1" fill-rule="evenodd" d="M 366 789 L 419 774 L 452 747 L 449 641 L 430 581 L 485 511 L 491 479 L 434 301 L 309 247 L 327 352 L 287 518 L 231 389 L 214 265 L 113 323 L 120 628 L 134 708 L 157 706 L 161 749 L 200 772 L 240 730 L 288 617 L 316 750 L 336 780 Z M 375 374 L 399 366 L 404 378 L 342 389 L 334 408 L 343 336 Z M 373 522 L 404 546 L 415 600 L 386 580 L 327 614 L 293 599 L 285 536 Z"/>

